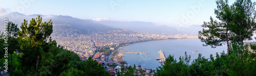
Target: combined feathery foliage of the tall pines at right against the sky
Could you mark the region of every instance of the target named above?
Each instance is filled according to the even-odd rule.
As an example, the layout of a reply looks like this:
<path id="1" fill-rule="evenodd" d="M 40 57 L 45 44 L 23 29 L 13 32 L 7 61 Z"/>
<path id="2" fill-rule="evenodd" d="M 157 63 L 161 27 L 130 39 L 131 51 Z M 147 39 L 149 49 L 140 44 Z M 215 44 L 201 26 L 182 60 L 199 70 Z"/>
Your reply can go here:
<path id="1" fill-rule="evenodd" d="M 210 22 L 202 25 L 203 30 L 199 31 L 198 37 L 205 43 L 204 46 L 210 45 L 212 48 L 226 43 L 229 55 L 229 42 L 233 37 L 243 45 L 243 41 L 251 40 L 252 33 L 256 30 L 255 2 L 237 0 L 229 6 L 227 0 L 218 0 L 216 4 L 215 14 L 219 21 L 210 17 Z"/>

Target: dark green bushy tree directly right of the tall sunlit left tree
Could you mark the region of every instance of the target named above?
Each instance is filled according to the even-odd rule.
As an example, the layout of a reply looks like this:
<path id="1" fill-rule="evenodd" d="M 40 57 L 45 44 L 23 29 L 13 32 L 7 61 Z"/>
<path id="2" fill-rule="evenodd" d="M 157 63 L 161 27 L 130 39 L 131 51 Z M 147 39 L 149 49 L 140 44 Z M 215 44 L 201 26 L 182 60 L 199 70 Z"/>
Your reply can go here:
<path id="1" fill-rule="evenodd" d="M 48 42 L 48 52 L 41 55 L 40 60 L 40 73 L 38 75 L 59 75 L 63 70 L 70 68 L 69 58 L 71 51 L 64 50 L 57 46 L 55 41 L 51 39 Z M 47 49 L 46 49 L 47 50 Z"/>

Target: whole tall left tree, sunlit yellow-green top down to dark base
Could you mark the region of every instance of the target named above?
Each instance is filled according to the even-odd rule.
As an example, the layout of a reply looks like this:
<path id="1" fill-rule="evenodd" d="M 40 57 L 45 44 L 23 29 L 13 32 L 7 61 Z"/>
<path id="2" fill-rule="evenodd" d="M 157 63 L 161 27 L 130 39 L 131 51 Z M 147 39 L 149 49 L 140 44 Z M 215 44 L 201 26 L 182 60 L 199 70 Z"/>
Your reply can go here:
<path id="1" fill-rule="evenodd" d="M 35 70 L 34 72 L 39 72 L 39 62 L 41 55 L 48 52 L 47 40 L 52 33 L 52 22 L 41 22 L 42 18 L 38 16 L 37 18 L 32 18 L 29 23 L 24 19 L 24 22 L 20 26 L 22 31 L 18 31 L 19 46 L 22 49 L 21 52 L 24 53 L 22 56 L 22 64 L 26 66 L 24 68 L 26 73 L 29 70 Z M 35 66 L 34 66 L 35 65 Z M 32 68 L 32 69 L 31 69 Z"/>

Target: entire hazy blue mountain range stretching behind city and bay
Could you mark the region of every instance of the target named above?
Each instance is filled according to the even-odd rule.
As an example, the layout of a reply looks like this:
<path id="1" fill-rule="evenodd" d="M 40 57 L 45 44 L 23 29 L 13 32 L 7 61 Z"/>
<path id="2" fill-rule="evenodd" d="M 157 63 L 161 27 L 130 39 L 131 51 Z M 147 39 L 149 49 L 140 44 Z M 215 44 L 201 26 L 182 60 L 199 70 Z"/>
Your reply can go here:
<path id="1" fill-rule="evenodd" d="M 31 18 L 36 18 L 37 15 L 24 15 L 17 12 L 10 13 L 6 16 L 1 16 L 0 19 L 4 20 L 5 17 L 9 18 L 9 21 L 18 24 L 20 27 L 24 19 L 31 20 Z M 110 30 L 130 30 L 129 32 L 143 32 L 143 33 L 173 33 L 173 34 L 193 34 L 197 35 L 199 30 L 202 30 L 200 25 L 190 25 L 189 27 L 181 27 L 179 31 L 176 28 L 167 26 L 167 25 L 156 25 L 152 22 L 121 22 L 121 21 L 94 21 L 90 19 L 78 19 L 71 16 L 62 16 L 62 15 L 40 15 L 42 17 L 42 22 L 49 21 L 50 19 L 53 22 L 55 28 L 62 29 L 76 29 L 74 32 L 88 34 L 91 32 L 97 33 L 107 33 Z M 16 19 L 15 19 L 16 18 Z M 4 24 L 4 21 L 1 21 L 0 24 Z M 120 28 L 120 29 L 119 29 Z M 3 31 L 3 26 L 0 27 L 0 30 Z M 127 33 L 127 32 L 126 32 Z"/>

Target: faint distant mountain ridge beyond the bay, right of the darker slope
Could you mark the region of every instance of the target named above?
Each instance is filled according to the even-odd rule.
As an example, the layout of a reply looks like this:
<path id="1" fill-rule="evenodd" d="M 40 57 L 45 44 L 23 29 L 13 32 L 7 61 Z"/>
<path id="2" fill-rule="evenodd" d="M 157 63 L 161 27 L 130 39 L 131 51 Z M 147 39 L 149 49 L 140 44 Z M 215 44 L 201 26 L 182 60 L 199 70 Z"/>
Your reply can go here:
<path id="1" fill-rule="evenodd" d="M 144 32 L 144 33 L 186 33 L 186 34 L 198 34 L 199 30 L 202 30 L 201 25 L 190 25 L 189 27 L 181 27 L 178 31 L 174 27 L 170 27 L 167 25 L 156 25 L 152 22 L 120 22 L 120 21 L 94 21 L 98 23 L 102 23 L 104 25 L 108 25 L 113 28 L 121 28 L 124 30 L 131 30 L 136 32 Z"/>

